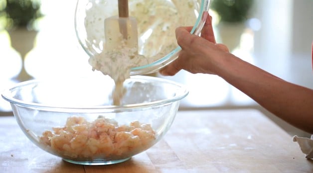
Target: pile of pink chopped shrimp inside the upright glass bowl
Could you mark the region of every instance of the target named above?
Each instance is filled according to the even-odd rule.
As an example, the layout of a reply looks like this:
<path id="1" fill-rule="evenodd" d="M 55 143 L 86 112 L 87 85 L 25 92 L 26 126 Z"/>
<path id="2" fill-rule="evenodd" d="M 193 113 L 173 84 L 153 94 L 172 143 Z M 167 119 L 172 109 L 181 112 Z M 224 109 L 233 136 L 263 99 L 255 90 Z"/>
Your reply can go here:
<path id="1" fill-rule="evenodd" d="M 64 127 L 53 127 L 39 137 L 40 143 L 65 158 L 79 160 L 130 157 L 154 144 L 155 131 L 139 121 L 119 126 L 99 116 L 92 122 L 72 116 Z"/>

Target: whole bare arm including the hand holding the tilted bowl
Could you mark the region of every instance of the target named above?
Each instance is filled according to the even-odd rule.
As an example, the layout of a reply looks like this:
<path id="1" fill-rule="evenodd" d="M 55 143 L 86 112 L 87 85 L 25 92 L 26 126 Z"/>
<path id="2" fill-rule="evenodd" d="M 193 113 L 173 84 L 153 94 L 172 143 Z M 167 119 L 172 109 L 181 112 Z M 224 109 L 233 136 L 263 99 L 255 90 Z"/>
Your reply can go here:
<path id="1" fill-rule="evenodd" d="M 189 28 L 190 29 L 190 28 Z M 313 133 L 313 90 L 288 83 L 230 54 L 216 44 L 210 17 L 203 28 L 206 34 L 190 34 L 188 28 L 176 29 L 179 58 L 163 68 L 162 75 L 190 73 L 215 74 L 237 87 L 283 120 Z"/>

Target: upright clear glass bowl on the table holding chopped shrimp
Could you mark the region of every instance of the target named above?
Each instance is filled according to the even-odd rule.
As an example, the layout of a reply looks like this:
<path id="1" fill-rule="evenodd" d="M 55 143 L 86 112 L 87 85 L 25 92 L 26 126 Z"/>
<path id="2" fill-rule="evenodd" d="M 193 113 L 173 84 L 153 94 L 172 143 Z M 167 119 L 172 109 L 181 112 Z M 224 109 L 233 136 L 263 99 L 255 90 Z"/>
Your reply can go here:
<path id="1" fill-rule="evenodd" d="M 2 93 L 24 134 L 42 150 L 80 165 L 129 160 L 170 128 L 188 91 L 169 80 L 133 76 L 121 106 L 112 105 L 114 82 L 97 79 L 32 80 Z"/>

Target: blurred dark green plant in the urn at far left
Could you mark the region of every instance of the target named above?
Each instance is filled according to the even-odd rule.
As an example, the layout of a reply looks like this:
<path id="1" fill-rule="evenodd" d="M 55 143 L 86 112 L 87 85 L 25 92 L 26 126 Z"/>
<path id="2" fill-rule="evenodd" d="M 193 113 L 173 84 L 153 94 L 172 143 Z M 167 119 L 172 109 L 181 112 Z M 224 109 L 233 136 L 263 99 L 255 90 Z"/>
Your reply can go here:
<path id="1" fill-rule="evenodd" d="M 2 25 L 6 29 L 16 27 L 33 29 L 33 22 L 42 16 L 40 5 L 40 0 L 0 0 L 0 22 L 5 19 Z"/>

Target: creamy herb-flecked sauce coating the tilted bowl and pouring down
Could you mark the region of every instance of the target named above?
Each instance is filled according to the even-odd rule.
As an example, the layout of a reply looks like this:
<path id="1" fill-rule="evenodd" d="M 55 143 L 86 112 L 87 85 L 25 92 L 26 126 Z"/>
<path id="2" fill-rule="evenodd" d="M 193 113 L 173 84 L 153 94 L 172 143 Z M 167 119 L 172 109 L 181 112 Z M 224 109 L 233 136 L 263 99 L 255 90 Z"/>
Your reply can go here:
<path id="1" fill-rule="evenodd" d="M 90 0 L 86 8 L 87 42 L 94 56 L 89 59 L 93 70 L 109 75 L 116 84 L 113 93 L 119 105 L 133 67 L 151 64 L 164 57 L 178 45 L 175 28 L 192 26 L 198 16 L 201 0 L 129 0 L 130 16 L 138 24 L 138 48 L 128 48 L 122 41 L 112 51 L 106 51 L 104 20 L 117 15 L 117 1 Z"/>

